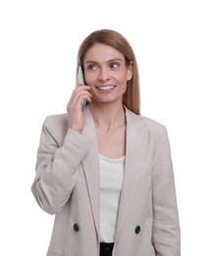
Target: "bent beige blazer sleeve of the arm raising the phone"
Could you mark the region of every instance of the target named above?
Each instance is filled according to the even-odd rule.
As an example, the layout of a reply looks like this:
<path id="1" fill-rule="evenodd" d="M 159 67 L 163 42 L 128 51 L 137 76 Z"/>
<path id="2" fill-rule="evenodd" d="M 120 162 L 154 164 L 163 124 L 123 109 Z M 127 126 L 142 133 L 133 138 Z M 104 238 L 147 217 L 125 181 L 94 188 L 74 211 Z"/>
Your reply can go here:
<path id="1" fill-rule="evenodd" d="M 70 198 L 76 185 L 80 161 L 91 142 L 68 129 L 62 145 L 62 132 L 51 116 L 43 123 L 35 165 L 36 175 L 31 191 L 38 205 L 49 214 L 58 213 Z"/>

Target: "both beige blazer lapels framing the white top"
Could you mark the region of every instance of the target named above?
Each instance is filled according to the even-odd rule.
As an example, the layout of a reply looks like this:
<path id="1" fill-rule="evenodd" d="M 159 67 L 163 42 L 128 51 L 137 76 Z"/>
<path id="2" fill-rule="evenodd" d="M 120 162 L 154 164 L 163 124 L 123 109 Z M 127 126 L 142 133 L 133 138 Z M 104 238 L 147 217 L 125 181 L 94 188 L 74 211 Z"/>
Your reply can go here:
<path id="1" fill-rule="evenodd" d="M 135 115 L 126 107 L 125 110 L 127 118 L 126 164 L 115 239 L 118 238 L 119 233 L 122 230 L 125 218 L 131 207 L 131 202 L 133 201 L 134 190 L 136 188 L 138 176 L 141 173 L 147 138 L 147 129 L 143 117 Z M 89 106 L 86 106 L 84 111 L 86 125 L 82 135 L 89 138 L 92 141 L 92 144 L 85 158 L 82 160 L 82 167 L 86 178 L 94 223 L 99 236 L 99 159 L 97 139 Z"/>

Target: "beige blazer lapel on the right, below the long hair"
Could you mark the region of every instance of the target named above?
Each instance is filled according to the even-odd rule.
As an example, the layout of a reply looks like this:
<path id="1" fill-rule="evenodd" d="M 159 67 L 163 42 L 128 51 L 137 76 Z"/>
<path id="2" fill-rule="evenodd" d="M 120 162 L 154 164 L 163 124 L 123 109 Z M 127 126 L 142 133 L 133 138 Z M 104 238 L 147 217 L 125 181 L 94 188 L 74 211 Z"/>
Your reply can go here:
<path id="1" fill-rule="evenodd" d="M 128 109 L 126 109 L 126 117 L 126 164 L 115 239 L 118 238 L 124 226 L 125 218 L 133 201 L 134 190 L 142 171 L 142 162 L 145 161 L 144 149 L 147 139 L 147 129 L 141 119 Z"/>

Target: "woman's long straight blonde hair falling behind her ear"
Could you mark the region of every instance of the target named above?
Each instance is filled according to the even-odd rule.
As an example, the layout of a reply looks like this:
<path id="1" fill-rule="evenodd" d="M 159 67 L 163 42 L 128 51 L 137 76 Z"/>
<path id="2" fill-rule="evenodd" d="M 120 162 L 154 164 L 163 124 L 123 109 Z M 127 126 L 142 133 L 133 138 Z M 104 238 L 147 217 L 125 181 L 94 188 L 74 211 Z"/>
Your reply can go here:
<path id="1" fill-rule="evenodd" d="M 80 44 L 78 53 L 78 68 L 83 64 L 84 56 L 88 49 L 95 43 L 109 45 L 125 56 L 126 65 L 132 65 L 133 77 L 127 82 L 127 90 L 123 96 L 123 103 L 135 114 L 140 113 L 139 76 L 133 48 L 128 40 L 119 32 L 100 30 L 91 32 Z"/>

